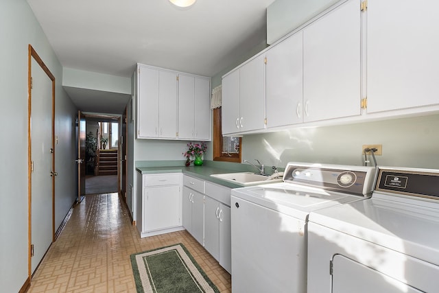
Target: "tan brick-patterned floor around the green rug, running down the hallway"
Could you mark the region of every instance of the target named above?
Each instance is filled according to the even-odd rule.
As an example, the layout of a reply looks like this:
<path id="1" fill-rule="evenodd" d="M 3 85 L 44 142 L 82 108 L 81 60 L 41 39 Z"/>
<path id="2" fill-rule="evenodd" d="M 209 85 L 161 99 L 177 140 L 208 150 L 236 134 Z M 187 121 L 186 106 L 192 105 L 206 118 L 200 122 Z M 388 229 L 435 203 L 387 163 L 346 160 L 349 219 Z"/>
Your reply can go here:
<path id="1" fill-rule="evenodd" d="M 28 292 L 136 292 L 130 255 L 182 243 L 221 292 L 230 274 L 187 231 L 140 238 L 117 194 L 86 196 L 32 279 Z"/>

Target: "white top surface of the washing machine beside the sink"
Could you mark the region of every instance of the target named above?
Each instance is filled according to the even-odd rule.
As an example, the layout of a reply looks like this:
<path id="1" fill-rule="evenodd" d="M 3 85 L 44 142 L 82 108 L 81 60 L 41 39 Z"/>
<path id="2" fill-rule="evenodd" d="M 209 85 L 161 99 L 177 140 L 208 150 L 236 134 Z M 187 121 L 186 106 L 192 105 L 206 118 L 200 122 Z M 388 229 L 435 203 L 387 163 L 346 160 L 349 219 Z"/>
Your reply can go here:
<path id="1" fill-rule="evenodd" d="M 301 220 L 307 220 L 310 211 L 364 199 L 362 196 L 330 192 L 318 187 L 306 187 L 292 183 L 232 189 L 232 195 Z"/>

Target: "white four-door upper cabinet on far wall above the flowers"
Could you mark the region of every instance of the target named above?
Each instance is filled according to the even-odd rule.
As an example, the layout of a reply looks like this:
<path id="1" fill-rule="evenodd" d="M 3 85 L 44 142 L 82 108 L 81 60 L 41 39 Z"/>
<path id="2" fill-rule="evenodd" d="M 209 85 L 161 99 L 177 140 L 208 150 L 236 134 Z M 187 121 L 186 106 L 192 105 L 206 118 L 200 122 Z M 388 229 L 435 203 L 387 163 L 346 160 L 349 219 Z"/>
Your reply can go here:
<path id="1" fill-rule="evenodd" d="M 209 78 L 146 65 L 137 70 L 137 138 L 211 140 Z"/>

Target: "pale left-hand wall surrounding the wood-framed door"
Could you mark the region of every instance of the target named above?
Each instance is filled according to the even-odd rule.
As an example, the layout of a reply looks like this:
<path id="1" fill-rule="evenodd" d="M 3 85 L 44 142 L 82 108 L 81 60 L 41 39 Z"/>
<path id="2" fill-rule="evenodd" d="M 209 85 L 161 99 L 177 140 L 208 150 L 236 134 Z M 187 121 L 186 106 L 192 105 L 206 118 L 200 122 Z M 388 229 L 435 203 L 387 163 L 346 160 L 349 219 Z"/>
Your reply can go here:
<path id="1" fill-rule="evenodd" d="M 27 56 L 31 44 L 56 77 L 56 226 L 75 198 L 75 108 L 62 90 L 62 67 L 25 0 L 0 0 L 0 284 L 18 292 L 28 273 Z"/>

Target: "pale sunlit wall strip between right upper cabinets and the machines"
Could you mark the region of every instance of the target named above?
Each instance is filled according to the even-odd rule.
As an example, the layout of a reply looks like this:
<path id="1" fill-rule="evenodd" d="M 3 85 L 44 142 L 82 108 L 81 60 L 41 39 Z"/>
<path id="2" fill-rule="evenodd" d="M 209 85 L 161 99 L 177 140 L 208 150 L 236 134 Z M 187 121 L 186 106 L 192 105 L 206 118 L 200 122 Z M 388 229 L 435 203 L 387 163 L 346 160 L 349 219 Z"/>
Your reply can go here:
<path id="1" fill-rule="evenodd" d="M 439 115 L 246 135 L 243 160 L 362 165 L 365 144 L 383 145 L 379 165 L 439 169 Z"/>

